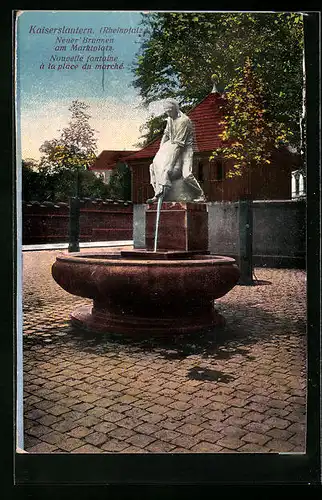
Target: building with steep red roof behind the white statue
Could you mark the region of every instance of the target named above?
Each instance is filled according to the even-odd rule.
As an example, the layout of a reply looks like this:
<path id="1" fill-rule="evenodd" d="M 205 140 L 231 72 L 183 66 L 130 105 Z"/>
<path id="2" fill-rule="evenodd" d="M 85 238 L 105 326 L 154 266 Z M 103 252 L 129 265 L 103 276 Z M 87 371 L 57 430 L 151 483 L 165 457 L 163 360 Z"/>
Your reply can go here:
<path id="1" fill-rule="evenodd" d="M 256 167 L 240 177 L 228 178 L 231 160 L 209 160 L 215 148 L 223 145 L 220 134 L 223 126 L 221 105 L 224 96 L 213 91 L 187 113 L 195 131 L 193 173 L 203 187 L 208 201 L 291 199 L 291 171 L 297 157 L 287 148 L 274 152 L 270 165 Z M 159 149 L 161 137 L 143 149 L 123 157 L 132 171 L 132 201 L 145 203 L 153 196 L 149 165 Z"/>

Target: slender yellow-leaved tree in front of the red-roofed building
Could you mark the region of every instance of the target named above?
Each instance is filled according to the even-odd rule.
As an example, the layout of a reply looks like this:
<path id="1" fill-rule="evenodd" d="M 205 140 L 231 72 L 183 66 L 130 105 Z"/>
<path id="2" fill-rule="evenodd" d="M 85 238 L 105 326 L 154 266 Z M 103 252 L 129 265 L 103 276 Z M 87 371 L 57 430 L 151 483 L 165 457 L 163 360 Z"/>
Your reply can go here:
<path id="1" fill-rule="evenodd" d="M 217 148 L 211 159 L 219 156 L 231 160 L 227 177 L 242 175 L 253 166 L 270 164 L 272 151 L 286 142 L 287 131 L 265 109 L 263 84 L 249 58 L 228 86 L 223 108 L 221 138 L 226 144 Z"/>

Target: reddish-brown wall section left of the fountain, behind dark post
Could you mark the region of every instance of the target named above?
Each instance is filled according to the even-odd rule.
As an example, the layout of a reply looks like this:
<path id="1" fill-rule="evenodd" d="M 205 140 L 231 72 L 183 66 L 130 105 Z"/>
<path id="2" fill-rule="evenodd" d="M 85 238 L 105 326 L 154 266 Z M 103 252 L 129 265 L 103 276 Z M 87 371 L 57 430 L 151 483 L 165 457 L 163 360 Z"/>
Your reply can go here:
<path id="1" fill-rule="evenodd" d="M 68 242 L 68 203 L 23 202 L 24 245 Z M 131 202 L 81 200 L 80 241 L 119 241 L 133 237 Z"/>

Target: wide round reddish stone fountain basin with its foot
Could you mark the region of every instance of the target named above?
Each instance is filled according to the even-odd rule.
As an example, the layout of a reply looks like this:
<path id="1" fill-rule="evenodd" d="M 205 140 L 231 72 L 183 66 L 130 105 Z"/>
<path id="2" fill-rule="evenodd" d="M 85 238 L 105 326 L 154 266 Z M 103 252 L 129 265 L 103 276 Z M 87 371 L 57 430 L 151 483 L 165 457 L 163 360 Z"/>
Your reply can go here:
<path id="1" fill-rule="evenodd" d="M 234 259 L 195 252 L 60 254 L 52 266 L 67 292 L 93 300 L 71 314 L 95 331 L 186 333 L 222 323 L 214 300 L 239 279 Z"/>

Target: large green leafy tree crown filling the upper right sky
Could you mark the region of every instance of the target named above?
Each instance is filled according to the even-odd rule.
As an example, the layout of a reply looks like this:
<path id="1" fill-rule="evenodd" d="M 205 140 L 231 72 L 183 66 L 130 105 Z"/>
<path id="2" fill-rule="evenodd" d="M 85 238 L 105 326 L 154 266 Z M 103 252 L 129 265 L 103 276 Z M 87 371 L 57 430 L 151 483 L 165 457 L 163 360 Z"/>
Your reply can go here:
<path id="1" fill-rule="evenodd" d="M 152 13 L 133 68 L 145 103 L 169 95 L 193 106 L 225 89 L 249 57 L 263 82 L 267 111 L 300 144 L 303 19 L 298 13 Z M 151 129 L 152 130 L 152 129 Z"/>

